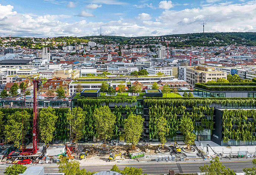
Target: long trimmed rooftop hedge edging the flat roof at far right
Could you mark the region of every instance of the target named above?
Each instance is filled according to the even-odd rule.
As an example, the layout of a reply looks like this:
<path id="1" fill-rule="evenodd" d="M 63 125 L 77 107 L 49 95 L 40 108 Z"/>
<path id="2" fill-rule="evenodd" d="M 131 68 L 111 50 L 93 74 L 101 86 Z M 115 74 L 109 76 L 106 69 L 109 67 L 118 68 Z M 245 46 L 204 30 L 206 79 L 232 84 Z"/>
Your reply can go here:
<path id="1" fill-rule="evenodd" d="M 208 86 L 206 84 L 196 83 L 195 87 L 209 91 L 256 91 L 256 86 Z"/>

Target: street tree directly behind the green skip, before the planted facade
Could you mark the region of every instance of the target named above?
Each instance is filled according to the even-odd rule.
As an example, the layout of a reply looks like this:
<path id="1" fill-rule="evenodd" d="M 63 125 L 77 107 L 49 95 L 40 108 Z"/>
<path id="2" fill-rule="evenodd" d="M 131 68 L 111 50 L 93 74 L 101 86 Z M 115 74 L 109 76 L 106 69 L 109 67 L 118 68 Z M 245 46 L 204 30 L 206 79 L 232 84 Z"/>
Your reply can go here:
<path id="1" fill-rule="evenodd" d="M 140 115 L 129 114 L 128 118 L 124 119 L 124 135 L 126 142 L 137 145 L 141 133 L 143 131 L 144 118 Z"/>

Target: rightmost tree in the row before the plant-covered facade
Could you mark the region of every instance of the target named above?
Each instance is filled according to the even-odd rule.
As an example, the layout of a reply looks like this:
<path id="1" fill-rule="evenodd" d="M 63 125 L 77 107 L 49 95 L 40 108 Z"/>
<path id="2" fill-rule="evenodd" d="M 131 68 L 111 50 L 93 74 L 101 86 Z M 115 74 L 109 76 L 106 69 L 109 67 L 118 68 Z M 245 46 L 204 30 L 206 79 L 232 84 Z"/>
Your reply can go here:
<path id="1" fill-rule="evenodd" d="M 195 143 L 196 135 L 193 134 L 194 125 L 188 112 L 182 116 L 179 130 L 185 135 L 184 142 L 187 144 L 187 149 L 190 149 L 189 146 Z"/>

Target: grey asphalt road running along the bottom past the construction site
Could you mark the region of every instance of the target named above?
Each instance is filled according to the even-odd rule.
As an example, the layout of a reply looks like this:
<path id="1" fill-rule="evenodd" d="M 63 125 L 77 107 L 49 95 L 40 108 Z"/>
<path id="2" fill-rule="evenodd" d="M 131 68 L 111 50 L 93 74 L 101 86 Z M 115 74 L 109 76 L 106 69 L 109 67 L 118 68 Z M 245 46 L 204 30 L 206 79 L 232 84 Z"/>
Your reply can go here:
<path id="1" fill-rule="evenodd" d="M 252 159 L 243 159 L 239 160 L 226 160 L 222 164 L 227 168 L 233 169 L 235 172 L 242 172 L 243 168 L 252 167 Z M 119 169 L 124 169 L 125 166 L 131 166 L 135 168 L 142 168 L 146 174 L 168 174 L 168 170 L 174 170 L 175 173 L 196 173 L 200 172 L 199 166 L 204 164 L 210 164 L 209 161 L 200 161 L 200 162 L 138 162 L 138 163 L 127 163 L 127 164 L 118 164 Z M 31 165 L 29 165 L 31 166 Z M 40 165 L 32 165 L 40 166 Z M 42 166 L 42 165 L 41 165 Z M 44 165 L 45 173 L 49 172 L 58 172 L 58 166 L 56 164 Z M 85 168 L 87 171 L 109 171 L 113 165 L 80 165 L 80 168 Z M 2 175 L 5 165 L 0 165 L 0 174 Z"/>

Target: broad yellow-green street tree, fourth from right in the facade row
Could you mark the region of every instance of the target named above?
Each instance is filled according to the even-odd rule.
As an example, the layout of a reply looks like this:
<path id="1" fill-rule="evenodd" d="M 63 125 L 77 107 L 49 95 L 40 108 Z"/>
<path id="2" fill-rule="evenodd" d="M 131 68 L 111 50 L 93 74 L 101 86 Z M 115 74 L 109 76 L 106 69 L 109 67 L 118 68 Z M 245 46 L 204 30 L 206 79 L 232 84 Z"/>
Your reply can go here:
<path id="1" fill-rule="evenodd" d="M 111 138 L 114 133 L 116 116 L 110 111 L 108 106 L 96 108 L 93 112 L 95 118 L 95 127 L 99 138 Z"/>

